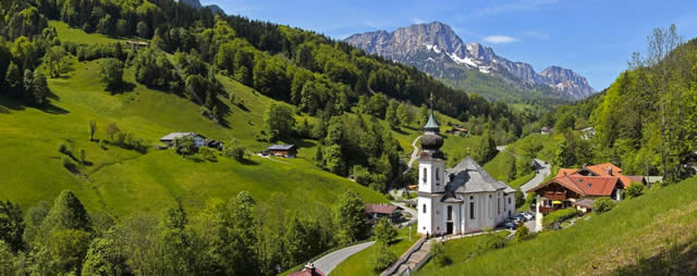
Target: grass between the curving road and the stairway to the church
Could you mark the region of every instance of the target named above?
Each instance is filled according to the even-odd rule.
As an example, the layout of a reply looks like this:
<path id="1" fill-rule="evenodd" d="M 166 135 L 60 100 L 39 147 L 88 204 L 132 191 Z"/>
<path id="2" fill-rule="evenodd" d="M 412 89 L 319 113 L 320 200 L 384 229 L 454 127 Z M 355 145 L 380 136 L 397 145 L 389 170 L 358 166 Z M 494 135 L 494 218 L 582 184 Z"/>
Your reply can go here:
<path id="1" fill-rule="evenodd" d="M 416 235 L 416 227 L 412 229 L 412 240 L 409 240 L 409 228 L 404 227 L 400 229 L 396 237 L 396 241 L 390 244 L 390 251 L 392 251 L 396 258 L 400 258 L 402 253 L 406 252 L 412 244 L 418 241 L 419 236 Z M 375 258 L 376 246 L 371 246 L 343 261 L 337 266 L 329 275 L 342 276 L 342 275 L 380 275 L 382 271 L 376 272 L 371 268 L 371 260 Z"/>

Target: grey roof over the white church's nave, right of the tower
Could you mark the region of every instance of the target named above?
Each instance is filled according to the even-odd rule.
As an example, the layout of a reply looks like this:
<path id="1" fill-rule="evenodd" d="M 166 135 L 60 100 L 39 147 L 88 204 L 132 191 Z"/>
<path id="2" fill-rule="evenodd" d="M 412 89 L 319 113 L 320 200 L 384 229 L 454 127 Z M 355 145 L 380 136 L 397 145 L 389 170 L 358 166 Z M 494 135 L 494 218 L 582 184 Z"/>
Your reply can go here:
<path id="1" fill-rule="evenodd" d="M 472 158 L 466 156 L 456 166 L 448 170 L 447 179 L 451 179 L 445 186 L 448 192 L 484 192 L 512 189 L 508 185 L 494 179 Z"/>

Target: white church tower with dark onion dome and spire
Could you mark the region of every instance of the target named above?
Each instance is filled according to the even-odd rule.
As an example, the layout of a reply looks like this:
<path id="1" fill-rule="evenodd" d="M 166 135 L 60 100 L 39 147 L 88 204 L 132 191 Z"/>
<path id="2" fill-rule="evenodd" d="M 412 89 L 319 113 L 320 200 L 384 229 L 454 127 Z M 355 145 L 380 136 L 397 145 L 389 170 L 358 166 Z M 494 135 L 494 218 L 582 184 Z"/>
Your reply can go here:
<path id="1" fill-rule="evenodd" d="M 440 151 L 443 137 L 438 135 L 440 126 L 433 117 L 433 96 L 431 93 L 431 113 L 424 126 L 420 138 L 421 152 L 418 158 L 418 233 L 435 234 L 443 231 L 440 198 L 445 192 L 445 156 Z"/>

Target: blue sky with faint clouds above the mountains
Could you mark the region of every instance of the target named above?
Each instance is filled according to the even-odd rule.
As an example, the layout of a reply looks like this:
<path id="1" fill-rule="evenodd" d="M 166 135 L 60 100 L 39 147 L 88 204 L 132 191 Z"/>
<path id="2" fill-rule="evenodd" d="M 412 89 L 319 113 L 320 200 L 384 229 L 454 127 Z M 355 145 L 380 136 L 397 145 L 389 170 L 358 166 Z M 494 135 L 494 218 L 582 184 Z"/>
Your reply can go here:
<path id="1" fill-rule="evenodd" d="M 686 39 L 697 37 L 697 1 L 481 0 L 313 1 L 201 0 L 228 14 L 270 21 L 345 38 L 440 21 L 465 42 L 480 42 L 512 61 L 572 68 L 597 90 L 626 70 L 632 52 L 645 52 L 656 27 L 674 23 Z"/>

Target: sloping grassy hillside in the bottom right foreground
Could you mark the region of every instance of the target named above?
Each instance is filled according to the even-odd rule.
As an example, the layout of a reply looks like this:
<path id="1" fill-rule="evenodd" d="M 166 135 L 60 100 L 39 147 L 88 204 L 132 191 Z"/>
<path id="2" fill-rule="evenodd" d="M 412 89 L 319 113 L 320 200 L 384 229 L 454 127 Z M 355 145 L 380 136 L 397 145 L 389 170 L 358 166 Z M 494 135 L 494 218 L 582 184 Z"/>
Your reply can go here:
<path id="1" fill-rule="evenodd" d="M 692 178 L 566 229 L 419 275 L 686 275 L 697 268 L 695 233 Z"/>

